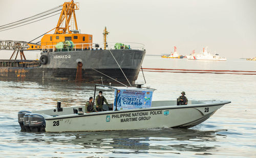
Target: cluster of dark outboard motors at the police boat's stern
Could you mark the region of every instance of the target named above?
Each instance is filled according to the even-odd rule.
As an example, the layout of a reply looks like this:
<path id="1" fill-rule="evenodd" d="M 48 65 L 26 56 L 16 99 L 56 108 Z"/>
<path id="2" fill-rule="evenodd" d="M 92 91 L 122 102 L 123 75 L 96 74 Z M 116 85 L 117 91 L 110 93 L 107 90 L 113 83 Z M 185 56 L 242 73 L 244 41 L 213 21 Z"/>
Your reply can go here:
<path id="1" fill-rule="evenodd" d="M 22 110 L 18 112 L 18 123 L 20 131 L 45 131 L 46 121 L 44 116 L 40 114 L 33 114 L 30 111 Z"/>

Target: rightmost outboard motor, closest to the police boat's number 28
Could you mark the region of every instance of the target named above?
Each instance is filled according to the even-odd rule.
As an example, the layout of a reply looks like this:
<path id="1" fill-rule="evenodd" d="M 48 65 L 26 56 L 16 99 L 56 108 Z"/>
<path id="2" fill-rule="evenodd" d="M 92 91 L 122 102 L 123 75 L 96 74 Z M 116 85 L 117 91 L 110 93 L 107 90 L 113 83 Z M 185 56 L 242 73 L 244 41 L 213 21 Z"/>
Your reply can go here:
<path id="1" fill-rule="evenodd" d="M 46 121 L 44 116 L 40 114 L 29 115 L 29 127 L 33 132 L 45 131 Z"/>

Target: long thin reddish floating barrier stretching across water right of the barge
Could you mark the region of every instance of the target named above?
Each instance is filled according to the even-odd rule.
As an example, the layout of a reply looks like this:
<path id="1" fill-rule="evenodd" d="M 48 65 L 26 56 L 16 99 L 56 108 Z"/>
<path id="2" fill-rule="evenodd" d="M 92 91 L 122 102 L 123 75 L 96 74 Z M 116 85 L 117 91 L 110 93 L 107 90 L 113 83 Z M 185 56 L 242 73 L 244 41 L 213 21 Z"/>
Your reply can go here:
<path id="1" fill-rule="evenodd" d="M 238 71 L 238 70 L 189 70 L 189 69 L 157 69 L 143 68 L 144 72 L 160 73 L 199 73 L 199 74 L 232 74 L 232 75 L 256 75 L 256 71 Z"/>

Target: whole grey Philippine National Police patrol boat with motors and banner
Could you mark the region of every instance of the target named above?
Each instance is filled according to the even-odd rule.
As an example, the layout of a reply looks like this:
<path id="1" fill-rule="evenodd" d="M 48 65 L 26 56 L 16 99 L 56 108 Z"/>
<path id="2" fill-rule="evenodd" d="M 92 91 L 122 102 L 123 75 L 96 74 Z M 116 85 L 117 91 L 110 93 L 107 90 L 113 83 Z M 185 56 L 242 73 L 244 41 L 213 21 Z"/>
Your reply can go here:
<path id="1" fill-rule="evenodd" d="M 212 116 L 230 101 L 196 101 L 177 105 L 176 100 L 152 101 L 156 89 L 149 87 L 113 87 L 95 85 L 115 90 L 112 108 L 103 105 L 105 111 L 84 113 L 85 106 L 61 107 L 46 110 L 18 112 L 22 131 L 104 131 L 144 128 L 190 128 Z M 93 101 L 94 102 L 94 101 Z"/>

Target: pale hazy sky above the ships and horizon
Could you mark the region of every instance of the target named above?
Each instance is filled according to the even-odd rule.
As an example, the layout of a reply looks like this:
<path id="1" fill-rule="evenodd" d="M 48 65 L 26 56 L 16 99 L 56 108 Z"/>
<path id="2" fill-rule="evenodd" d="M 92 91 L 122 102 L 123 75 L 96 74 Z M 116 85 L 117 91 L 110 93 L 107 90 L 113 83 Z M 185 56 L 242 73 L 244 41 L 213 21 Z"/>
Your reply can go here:
<path id="1" fill-rule="evenodd" d="M 63 4 L 63 0 L 0 0 L 0 26 Z M 255 0 L 111 0 L 75 1 L 78 29 L 102 42 L 145 44 L 147 54 L 167 54 L 176 46 L 181 55 L 203 47 L 226 58 L 256 57 Z M 30 41 L 56 27 L 59 16 L 0 32 L 2 40 Z M 36 40 L 39 41 L 39 40 Z M 2 54 L 2 51 L 0 52 Z"/>

